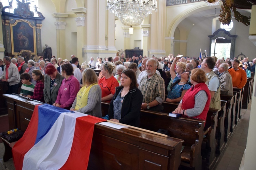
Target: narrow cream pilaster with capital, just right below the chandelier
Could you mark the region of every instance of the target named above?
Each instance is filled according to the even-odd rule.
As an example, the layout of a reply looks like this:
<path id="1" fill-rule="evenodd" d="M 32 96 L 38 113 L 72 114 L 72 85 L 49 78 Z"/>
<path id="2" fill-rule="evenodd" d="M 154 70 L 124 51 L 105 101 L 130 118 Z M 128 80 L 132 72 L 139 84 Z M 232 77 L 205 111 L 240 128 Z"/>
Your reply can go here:
<path id="1" fill-rule="evenodd" d="M 151 28 L 151 24 L 143 24 L 140 26 L 140 28 L 142 29 L 142 49 L 143 49 L 143 56 L 147 56 L 147 51 L 148 51 L 148 47 L 149 47 L 149 35 L 150 35 L 150 28 Z M 148 57 L 148 56 L 147 56 Z"/>

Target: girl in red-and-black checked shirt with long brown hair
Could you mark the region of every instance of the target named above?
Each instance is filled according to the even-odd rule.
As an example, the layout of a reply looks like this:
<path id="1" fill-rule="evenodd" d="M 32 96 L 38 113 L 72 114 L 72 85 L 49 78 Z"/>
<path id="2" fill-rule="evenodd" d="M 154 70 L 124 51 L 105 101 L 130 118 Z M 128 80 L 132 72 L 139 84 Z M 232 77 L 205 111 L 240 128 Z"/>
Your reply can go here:
<path id="1" fill-rule="evenodd" d="M 35 69 L 32 70 L 32 79 L 37 81 L 37 84 L 34 88 L 34 95 L 28 95 L 27 97 L 44 103 L 44 75 L 40 70 Z"/>

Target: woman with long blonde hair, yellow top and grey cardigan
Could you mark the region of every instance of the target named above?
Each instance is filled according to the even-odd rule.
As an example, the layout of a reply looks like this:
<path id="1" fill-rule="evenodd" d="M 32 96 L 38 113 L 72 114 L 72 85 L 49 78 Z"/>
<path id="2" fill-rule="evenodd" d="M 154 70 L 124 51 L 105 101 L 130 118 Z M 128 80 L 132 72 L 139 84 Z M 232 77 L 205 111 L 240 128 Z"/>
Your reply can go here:
<path id="1" fill-rule="evenodd" d="M 101 89 L 97 84 L 98 79 L 95 71 L 86 68 L 82 80 L 83 87 L 77 93 L 70 110 L 101 118 Z"/>

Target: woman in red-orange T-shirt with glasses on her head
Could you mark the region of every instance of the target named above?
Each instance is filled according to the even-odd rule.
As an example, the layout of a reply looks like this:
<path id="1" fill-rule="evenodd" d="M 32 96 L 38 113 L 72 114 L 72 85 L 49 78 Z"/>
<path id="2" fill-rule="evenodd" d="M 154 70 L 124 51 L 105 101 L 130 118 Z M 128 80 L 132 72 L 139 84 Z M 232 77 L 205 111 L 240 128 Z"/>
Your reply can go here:
<path id="1" fill-rule="evenodd" d="M 110 62 L 105 62 L 102 66 L 102 75 L 104 76 L 98 82 L 101 88 L 101 101 L 110 102 L 113 98 L 116 87 L 119 86 L 118 81 L 113 77 L 112 73 L 115 66 Z"/>

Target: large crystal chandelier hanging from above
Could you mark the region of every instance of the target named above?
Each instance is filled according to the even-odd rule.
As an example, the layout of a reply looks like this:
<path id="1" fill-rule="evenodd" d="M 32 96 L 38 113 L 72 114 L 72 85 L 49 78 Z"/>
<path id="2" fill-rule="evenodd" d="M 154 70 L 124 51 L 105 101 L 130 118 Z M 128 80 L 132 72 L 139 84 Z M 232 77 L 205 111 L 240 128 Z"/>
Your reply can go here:
<path id="1" fill-rule="evenodd" d="M 152 13 L 157 12 L 156 0 L 107 0 L 106 10 L 110 10 L 120 21 L 130 26 L 130 34 L 133 31 L 132 26 L 138 26 L 143 19 Z"/>

